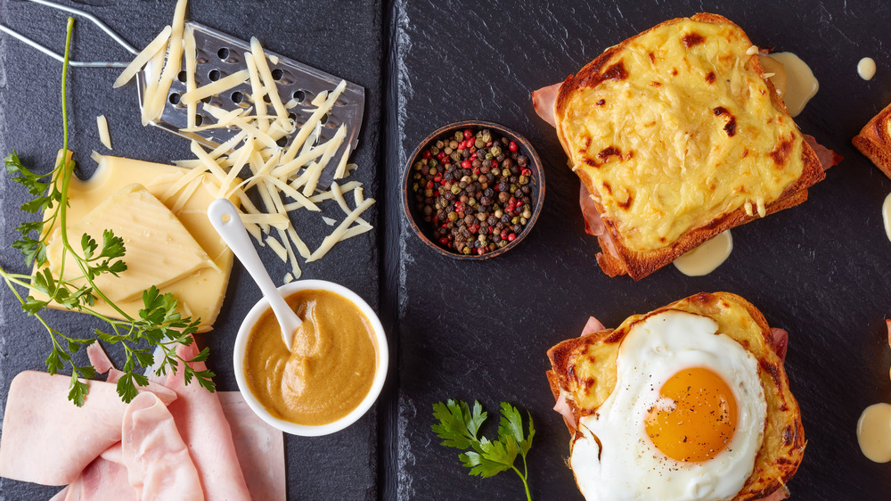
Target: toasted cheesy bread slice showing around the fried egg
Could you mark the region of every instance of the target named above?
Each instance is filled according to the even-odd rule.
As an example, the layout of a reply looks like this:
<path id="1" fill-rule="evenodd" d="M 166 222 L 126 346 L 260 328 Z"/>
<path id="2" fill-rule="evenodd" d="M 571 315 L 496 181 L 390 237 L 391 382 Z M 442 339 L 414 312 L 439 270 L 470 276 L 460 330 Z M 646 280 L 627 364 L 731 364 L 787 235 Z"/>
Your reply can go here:
<path id="1" fill-rule="evenodd" d="M 805 434 L 798 403 L 789 390 L 781 357 L 773 348 L 774 334 L 764 316 L 747 300 L 728 292 L 702 292 L 658 308 L 646 315 L 630 316 L 615 330 L 560 342 L 548 350 L 552 370 L 547 372 L 554 398 L 562 397 L 571 413 L 567 426 L 576 435 L 576 423 L 593 415 L 616 388 L 619 346 L 631 327 L 642 319 L 669 309 L 709 316 L 718 333 L 738 341 L 758 360 L 758 377 L 767 400 L 764 441 L 755 469 L 734 500 L 761 499 L 784 489 L 797 471 L 805 449 Z"/>

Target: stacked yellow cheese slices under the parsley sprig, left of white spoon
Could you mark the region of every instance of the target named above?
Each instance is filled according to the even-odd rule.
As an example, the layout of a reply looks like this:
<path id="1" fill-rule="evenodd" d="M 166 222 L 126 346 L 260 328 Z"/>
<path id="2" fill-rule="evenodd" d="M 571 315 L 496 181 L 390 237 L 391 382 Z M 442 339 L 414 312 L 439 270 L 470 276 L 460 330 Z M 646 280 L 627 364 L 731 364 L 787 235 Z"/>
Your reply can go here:
<path id="1" fill-rule="evenodd" d="M 69 242 L 79 250 L 81 235 L 102 242 L 102 230 L 112 229 L 124 237 L 127 271 L 121 278 L 102 276 L 99 286 L 128 315 L 143 308 L 142 291 L 159 286 L 179 301 L 184 316 L 200 318 L 200 331 L 208 331 L 223 304 L 232 270 L 233 254 L 210 226 L 208 205 L 217 198 L 219 181 L 205 172 L 119 157 L 94 155 L 99 164 L 87 181 L 72 178 L 69 185 Z M 143 188 L 134 187 L 138 184 Z M 233 203 L 238 203 L 233 198 Z M 117 222 L 116 222 L 117 221 Z M 118 227 L 112 227 L 114 225 Z M 51 234 L 58 235 L 53 227 Z M 51 240 L 51 266 L 58 267 L 60 242 Z M 78 276 L 73 264 L 65 275 Z M 35 294 L 37 297 L 37 294 Z M 37 298 L 41 299 L 41 298 Z M 53 308 L 61 306 L 50 304 Z M 95 308 L 103 315 L 119 318 L 102 301 Z"/>

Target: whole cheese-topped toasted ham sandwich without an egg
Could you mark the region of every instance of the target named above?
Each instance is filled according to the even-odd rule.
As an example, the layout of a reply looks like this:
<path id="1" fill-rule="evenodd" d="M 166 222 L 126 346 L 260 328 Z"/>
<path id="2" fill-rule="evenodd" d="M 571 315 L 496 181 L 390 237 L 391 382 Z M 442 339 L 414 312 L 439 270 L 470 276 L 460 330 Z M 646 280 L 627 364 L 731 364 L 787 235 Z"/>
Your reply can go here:
<path id="1" fill-rule="evenodd" d="M 739 26 L 699 13 L 533 93 L 582 181 L 597 261 L 639 280 L 716 234 L 797 205 L 823 177 Z"/>

